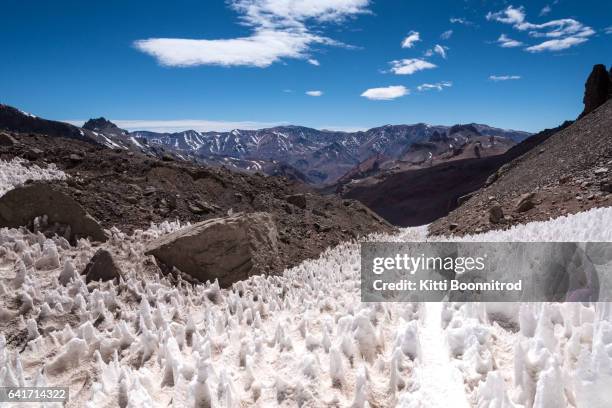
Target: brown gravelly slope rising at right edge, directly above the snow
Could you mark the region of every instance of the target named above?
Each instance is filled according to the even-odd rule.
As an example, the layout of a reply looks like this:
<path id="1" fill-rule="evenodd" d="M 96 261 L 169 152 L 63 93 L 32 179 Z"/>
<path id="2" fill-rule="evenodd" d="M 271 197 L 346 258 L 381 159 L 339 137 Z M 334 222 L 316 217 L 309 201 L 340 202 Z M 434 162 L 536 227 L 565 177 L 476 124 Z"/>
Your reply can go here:
<path id="1" fill-rule="evenodd" d="M 612 100 L 504 166 L 491 185 L 434 222 L 431 234 L 503 229 L 612 205 L 610 129 Z"/>

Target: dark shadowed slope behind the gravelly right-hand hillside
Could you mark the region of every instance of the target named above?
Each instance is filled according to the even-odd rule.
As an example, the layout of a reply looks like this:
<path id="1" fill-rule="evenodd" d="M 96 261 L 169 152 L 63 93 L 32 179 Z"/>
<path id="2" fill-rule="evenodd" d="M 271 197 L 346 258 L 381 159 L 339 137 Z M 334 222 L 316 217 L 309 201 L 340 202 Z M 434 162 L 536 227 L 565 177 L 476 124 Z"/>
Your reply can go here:
<path id="1" fill-rule="evenodd" d="M 438 157 L 431 165 L 404 163 L 386 171 L 380 169 L 383 163 L 368 163 L 370 167 L 362 168 L 361 179 L 345 178 L 335 188 L 342 197 L 361 201 L 394 225 L 428 224 L 456 208 L 462 197 L 490 182 L 504 164 L 560 128 L 533 135 L 502 154 L 486 153 L 498 149 L 501 143 L 495 138 L 494 143 L 479 145 L 480 156 L 464 152 L 446 159 Z"/>

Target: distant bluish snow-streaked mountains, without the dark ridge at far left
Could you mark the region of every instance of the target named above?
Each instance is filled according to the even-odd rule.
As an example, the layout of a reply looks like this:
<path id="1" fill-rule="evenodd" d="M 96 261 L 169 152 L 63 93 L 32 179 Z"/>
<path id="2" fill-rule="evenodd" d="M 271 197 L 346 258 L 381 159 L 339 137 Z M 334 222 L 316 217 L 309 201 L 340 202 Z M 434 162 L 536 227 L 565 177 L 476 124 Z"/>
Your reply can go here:
<path id="1" fill-rule="evenodd" d="M 438 156 L 460 149 L 476 136 L 493 136 L 509 147 L 530 135 L 527 132 L 487 125 L 471 124 L 469 128 L 471 132 L 465 132 L 462 126 L 419 123 L 385 125 L 359 132 L 279 126 L 231 132 L 140 131 L 133 132 L 132 135 L 146 139 L 149 144 L 172 148 L 181 154 L 209 163 L 219 159 L 235 166 L 240 166 L 241 162 L 251 163 L 247 170 L 255 168 L 266 173 L 271 171 L 266 163 L 284 163 L 302 174 L 303 181 L 313 185 L 333 184 L 372 157 L 384 159 L 387 163 L 396 160 L 421 161 L 420 157 L 410 158 L 412 148 L 417 143 L 429 143 L 424 150 L 427 150 L 427 154 Z"/>

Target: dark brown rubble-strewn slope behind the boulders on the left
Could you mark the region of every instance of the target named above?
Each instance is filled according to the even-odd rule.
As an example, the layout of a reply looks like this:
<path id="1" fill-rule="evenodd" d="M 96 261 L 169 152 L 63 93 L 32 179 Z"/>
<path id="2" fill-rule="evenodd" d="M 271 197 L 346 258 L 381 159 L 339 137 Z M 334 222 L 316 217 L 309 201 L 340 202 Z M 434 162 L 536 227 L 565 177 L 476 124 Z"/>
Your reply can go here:
<path id="1" fill-rule="evenodd" d="M 198 222 L 238 212 L 269 212 L 279 235 L 278 270 L 325 248 L 393 228 L 362 204 L 323 197 L 286 178 L 241 174 L 182 161 L 160 160 L 124 149 L 46 135 L 0 137 L 0 159 L 28 165 L 54 163 L 67 174 L 49 182 L 103 227 L 124 232 L 152 222 Z M 0 141 L 1 141 L 0 140 Z"/>

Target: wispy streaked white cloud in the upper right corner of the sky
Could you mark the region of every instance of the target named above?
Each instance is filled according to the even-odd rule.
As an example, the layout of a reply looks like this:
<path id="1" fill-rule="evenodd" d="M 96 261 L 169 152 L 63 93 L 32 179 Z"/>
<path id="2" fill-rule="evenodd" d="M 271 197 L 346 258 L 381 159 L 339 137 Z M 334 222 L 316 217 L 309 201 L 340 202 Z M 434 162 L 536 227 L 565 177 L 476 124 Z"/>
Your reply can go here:
<path id="1" fill-rule="evenodd" d="M 527 21 L 524 7 L 508 6 L 504 10 L 487 13 L 486 18 L 490 21 L 511 24 L 514 29 L 527 32 L 532 38 L 549 38 L 539 44 L 526 47 L 525 50 L 529 52 L 565 50 L 588 41 L 589 37 L 595 34 L 595 30 L 591 27 L 573 18 L 551 20 L 542 24 L 530 23 Z M 514 42 L 506 44 L 509 44 L 506 47 L 519 46 L 514 45 Z"/>

